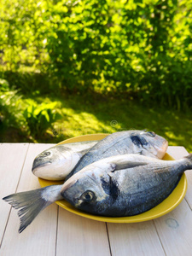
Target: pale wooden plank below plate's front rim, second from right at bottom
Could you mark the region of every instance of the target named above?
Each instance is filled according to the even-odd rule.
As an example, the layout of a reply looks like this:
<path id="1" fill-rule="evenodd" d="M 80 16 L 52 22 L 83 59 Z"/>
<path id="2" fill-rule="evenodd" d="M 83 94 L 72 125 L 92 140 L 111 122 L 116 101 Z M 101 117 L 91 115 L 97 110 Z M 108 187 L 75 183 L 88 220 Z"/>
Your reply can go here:
<path id="1" fill-rule="evenodd" d="M 108 223 L 113 256 L 164 256 L 153 221 L 135 224 Z"/>

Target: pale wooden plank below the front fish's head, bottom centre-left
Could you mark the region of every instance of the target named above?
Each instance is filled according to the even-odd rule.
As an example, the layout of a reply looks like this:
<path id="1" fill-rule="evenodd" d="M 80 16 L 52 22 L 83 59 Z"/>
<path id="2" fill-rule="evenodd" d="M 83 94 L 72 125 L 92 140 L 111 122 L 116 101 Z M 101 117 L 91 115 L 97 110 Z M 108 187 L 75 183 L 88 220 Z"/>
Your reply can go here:
<path id="1" fill-rule="evenodd" d="M 56 255 L 110 255 L 106 224 L 60 208 Z"/>

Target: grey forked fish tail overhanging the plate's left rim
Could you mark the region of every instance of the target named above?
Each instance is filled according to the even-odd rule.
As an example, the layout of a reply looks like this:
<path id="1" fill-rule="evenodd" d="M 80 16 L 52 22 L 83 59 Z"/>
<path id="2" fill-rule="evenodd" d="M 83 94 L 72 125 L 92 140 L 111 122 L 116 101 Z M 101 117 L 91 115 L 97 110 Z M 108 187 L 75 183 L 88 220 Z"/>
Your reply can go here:
<path id="1" fill-rule="evenodd" d="M 17 212 L 20 218 L 19 233 L 25 230 L 45 207 L 62 199 L 60 190 L 60 185 L 53 185 L 3 197 L 4 201 L 7 201 L 15 209 L 19 209 Z"/>

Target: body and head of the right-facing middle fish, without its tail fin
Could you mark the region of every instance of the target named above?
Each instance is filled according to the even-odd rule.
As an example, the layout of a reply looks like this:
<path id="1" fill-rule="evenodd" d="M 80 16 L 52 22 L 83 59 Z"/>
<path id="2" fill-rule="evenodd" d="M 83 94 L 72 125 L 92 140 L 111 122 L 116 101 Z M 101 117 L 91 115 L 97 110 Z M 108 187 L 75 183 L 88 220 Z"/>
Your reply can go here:
<path id="1" fill-rule="evenodd" d="M 118 154 L 143 154 L 162 159 L 166 154 L 168 143 L 153 131 L 119 131 L 114 132 L 84 154 L 78 164 L 70 172 L 66 180 L 74 173 L 79 172 L 84 166 L 113 155 Z"/>

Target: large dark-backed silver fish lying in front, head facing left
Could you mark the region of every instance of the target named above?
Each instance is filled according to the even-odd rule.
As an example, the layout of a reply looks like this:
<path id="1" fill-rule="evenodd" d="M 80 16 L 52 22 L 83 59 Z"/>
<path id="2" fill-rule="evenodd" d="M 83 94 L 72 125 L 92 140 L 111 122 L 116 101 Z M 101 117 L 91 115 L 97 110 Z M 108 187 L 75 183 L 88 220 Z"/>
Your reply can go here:
<path id="1" fill-rule="evenodd" d="M 164 201 L 189 169 L 192 169 L 192 154 L 181 160 L 117 155 L 74 174 L 63 184 L 61 195 L 74 207 L 91 214 L 137 215 Z"/>

